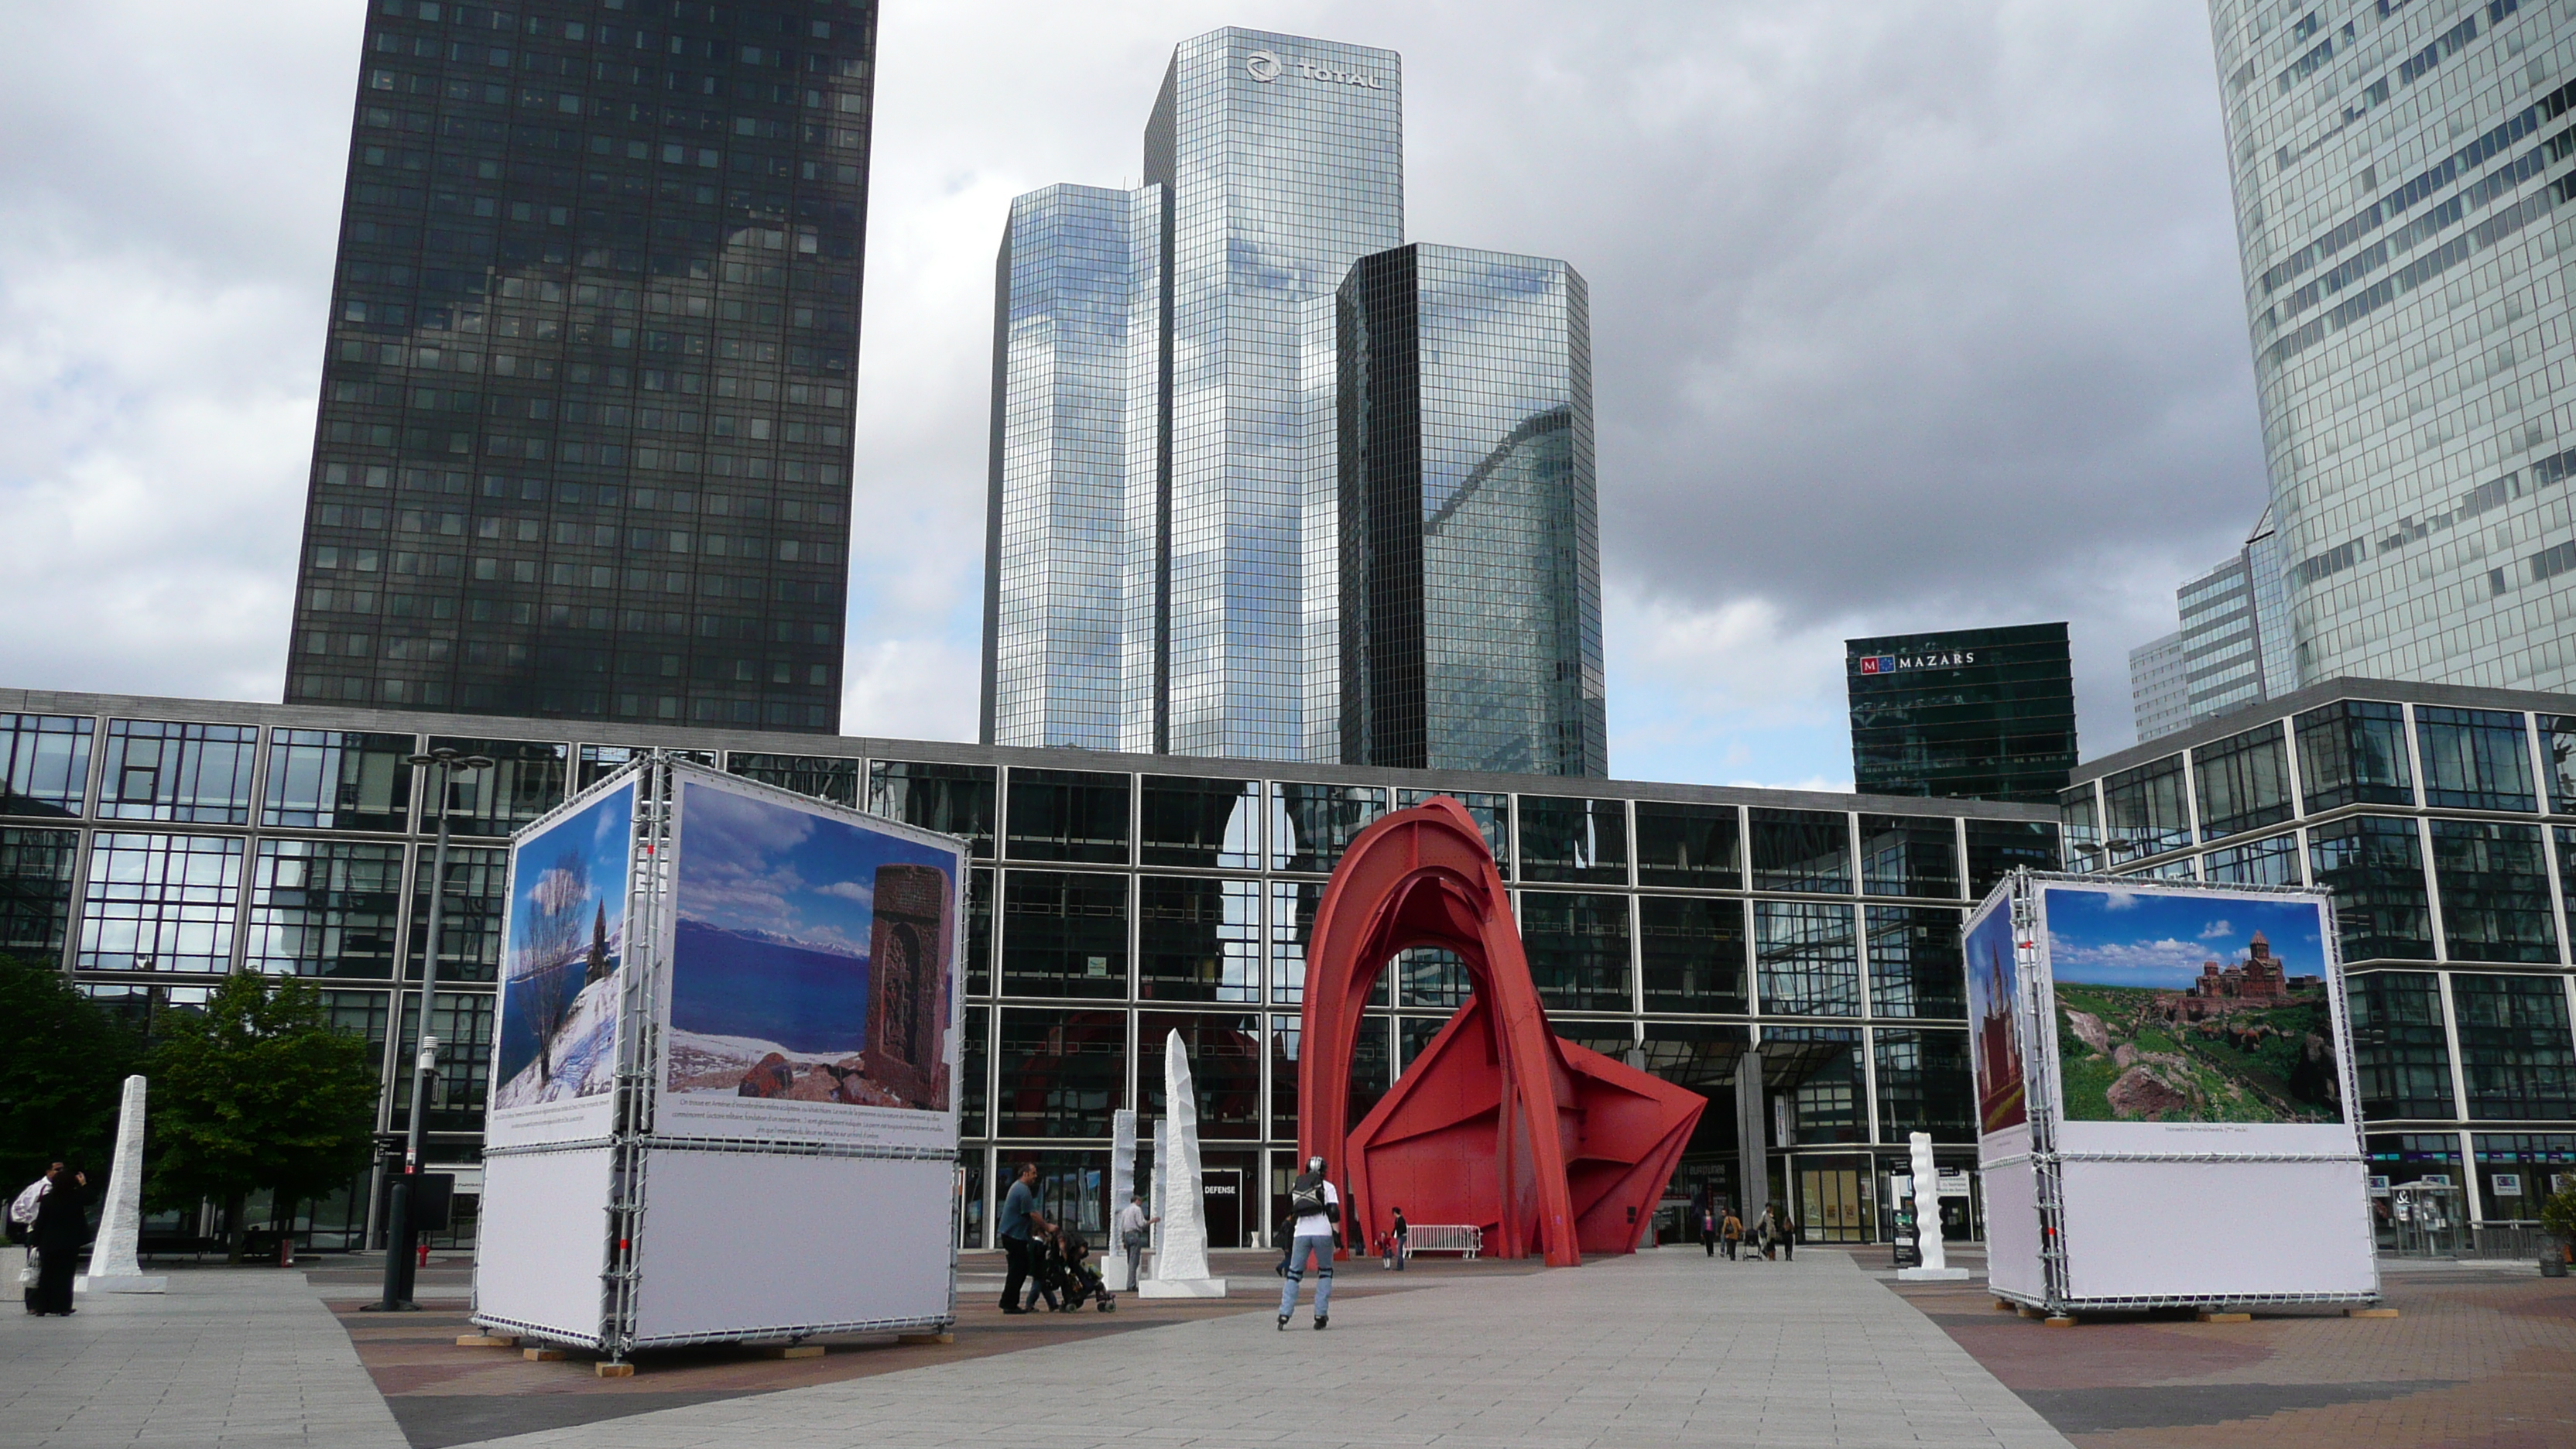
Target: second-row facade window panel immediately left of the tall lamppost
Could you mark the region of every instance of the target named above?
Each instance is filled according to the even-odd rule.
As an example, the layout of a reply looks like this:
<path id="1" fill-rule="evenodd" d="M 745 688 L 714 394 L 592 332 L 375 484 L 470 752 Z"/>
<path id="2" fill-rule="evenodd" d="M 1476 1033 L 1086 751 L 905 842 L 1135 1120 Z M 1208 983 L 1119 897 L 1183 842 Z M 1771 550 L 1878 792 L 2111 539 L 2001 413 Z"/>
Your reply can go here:
<path id="1" fill-rule="evenodd" d="M 247 964 L 286 977 L 392 980 L 399 915 L 402 846 L 260 841 Z"/>

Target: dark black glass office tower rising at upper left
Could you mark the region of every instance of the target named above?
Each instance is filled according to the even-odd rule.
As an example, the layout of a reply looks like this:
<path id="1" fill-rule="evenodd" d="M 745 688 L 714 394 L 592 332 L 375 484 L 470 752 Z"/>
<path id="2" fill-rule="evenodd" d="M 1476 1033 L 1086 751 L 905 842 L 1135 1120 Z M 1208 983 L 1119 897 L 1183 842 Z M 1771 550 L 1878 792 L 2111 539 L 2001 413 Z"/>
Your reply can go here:
<path id="1" fill-rule="evenodd" d="M 291 704 L 840 727 L 873 0 L 376 0 Z"/>

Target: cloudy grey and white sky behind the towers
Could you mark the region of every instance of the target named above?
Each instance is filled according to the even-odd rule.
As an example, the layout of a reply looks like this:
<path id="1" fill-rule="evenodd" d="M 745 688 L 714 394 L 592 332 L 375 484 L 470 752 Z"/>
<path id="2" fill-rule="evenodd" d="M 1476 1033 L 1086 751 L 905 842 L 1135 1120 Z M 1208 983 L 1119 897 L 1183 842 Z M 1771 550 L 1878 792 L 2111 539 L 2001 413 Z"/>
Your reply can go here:
<path id="1" fill-rule="evenodd" d="M 992 253 L 1172 41 L 1404 52 L 1409 235 L 1592 281 L 1610 766 L 1847 784 L 1842 639 L 2128 647 L 2262 511 L 2187 0 L 886 0 L 845 730 L 974 737 Z M 0 683 L 278 699 L 358 0 L 0 5 Z"/>

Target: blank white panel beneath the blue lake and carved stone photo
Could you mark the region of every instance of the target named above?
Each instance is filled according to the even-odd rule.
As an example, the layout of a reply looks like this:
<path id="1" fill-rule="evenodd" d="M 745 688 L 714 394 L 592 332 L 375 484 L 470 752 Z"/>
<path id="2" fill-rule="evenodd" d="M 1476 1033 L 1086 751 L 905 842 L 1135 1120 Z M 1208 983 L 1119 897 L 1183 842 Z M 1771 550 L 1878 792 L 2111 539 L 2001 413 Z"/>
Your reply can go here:
<path id="1" fill-rule="evenodd" d="M 951 1318 L 953 1171 L 652 1147 L 636 1341 Z"/>

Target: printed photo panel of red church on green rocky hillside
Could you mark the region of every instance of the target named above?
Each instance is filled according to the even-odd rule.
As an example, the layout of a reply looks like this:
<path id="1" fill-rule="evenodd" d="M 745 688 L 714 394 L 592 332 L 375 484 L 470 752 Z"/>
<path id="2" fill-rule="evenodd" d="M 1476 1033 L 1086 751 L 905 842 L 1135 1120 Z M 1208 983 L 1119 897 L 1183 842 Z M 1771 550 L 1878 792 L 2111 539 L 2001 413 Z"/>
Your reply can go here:
<path id="1" fill-rule="evenodd" d="M 2344 1122 L 2316 900 L 2045 887 L 2063 1122 Z"/>

